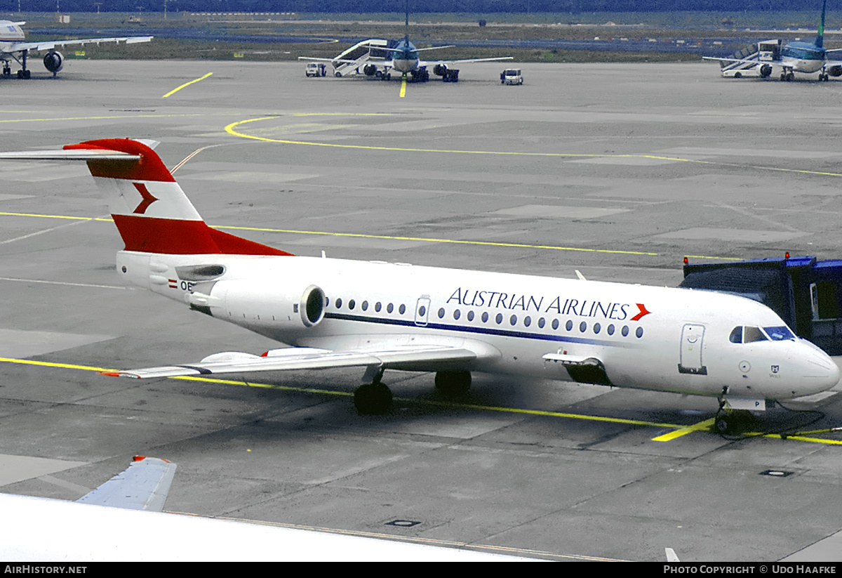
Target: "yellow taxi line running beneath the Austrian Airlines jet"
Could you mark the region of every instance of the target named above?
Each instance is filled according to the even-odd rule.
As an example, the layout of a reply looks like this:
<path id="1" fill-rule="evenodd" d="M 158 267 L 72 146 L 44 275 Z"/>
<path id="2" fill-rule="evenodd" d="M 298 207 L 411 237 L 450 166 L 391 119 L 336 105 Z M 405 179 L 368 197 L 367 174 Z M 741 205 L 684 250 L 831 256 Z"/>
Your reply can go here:
<path id="1" fill-rule="evenodd" d="M 116 369 L 109 369 L 105 367 L 91 367 L 91 366 L 80 366 L 74 365 L 70 363 L 55 363 L 51 361 L 34 361 L 29 359 L 16 359 L 13 357 L 0 357 L 0 362 L 3 363 L 17 363 L 22 365 L 29 365 L 29 366 L 37 366 L 37 367 L 55 367 L 58 369 L 78 369 L 87 372 L 117 372 Z M 125 377 L 123 377 L 125 379 Z M 296 392 L 296 393 L 321 393 L 323 395 L 330 395 L 330 396 L 341 396 L 341 397 L 351 397 L 354 393 L 351 392 L 343 392 L 343 391 L 335 391 L 333 389 L 317 389 L 317 388 L 295 388 L 288 385 L 277 385 L 274 383 L 256 383 L 256 382 L 238 382 L 232 379 L 216 379 L 214 377 L 196 377 L 196 376 L 175 376 L 175 377 L 167 377 L 167 379 L 181 379 L 184 381 L 191 381 L 191 382 L 203 382 L 203 383 L 219 383 L 221 385 L 238 385 L 247 388 L 262 388 L 262 389 L 274 389 L 276 391 L 288 391 L 288 392 Z M 566 418 L 570 420 L 588 420 L 588 421 L 601 421 L 605 423 L 614 423 L 614 424 L 623 424 L 623 425 L 643 425 L 647 427 L 669 427 L 674 430 L 684 431 L 706 431 L 706 428 L 703 427 L 703 424 L 706 422 L 700 422 L 695 425 L 678 425 L 678 424 L 664 424 L 658 423 L 655 421 L 643 421 L 643 420 L 626 420 L 623 418 L 616 418 L 616 417 L 604 417 L 601 415 L 581 415 L 581 414 L 568 414 L 559 411 L 544 411 L 541 409 L 520 409 L 520 408 L 507 408 L 507 407 L 498 407 L 494 405 L 478 405 L 478 404 L 455 404 L 452 402 L 446 401 L 436 401 L 434 399 L 413 399 L 413 398 L 394 398 L 398 401 L 410 402 L 414 404 L 427 404 L 427 405 L 437 405 L 441 407 L 448 407 L 448 408 L 463 408 L 463 409 L 478 409 L 482 411 L 496 411 L 501 413 L 509 413 L 509 414 L 524 414 L 524 415 L 544 415 L 547 417 L 559 417 L 559 418 Z M 688 431 L 689 433 L 689 431 Z M 666 434 L 669 435 L 669 434 Z M 683 434 L 682 434 L 683 435 Z M 761 434 L 759 432 L 747 433 L 745 434 L 746 437 L 773 437 L 778 439 L 784 440 L 798 440 L 800 442 L 813 442 L 813 443 L 825 443 L 830 445 L 842 445 L 842 441 L 837 440 L 825 440 L 819 437 L 806 437 L 806 436 L 781 436 L 781 434 Z M 663 436 L 662 436 L 663 437 Z"/>

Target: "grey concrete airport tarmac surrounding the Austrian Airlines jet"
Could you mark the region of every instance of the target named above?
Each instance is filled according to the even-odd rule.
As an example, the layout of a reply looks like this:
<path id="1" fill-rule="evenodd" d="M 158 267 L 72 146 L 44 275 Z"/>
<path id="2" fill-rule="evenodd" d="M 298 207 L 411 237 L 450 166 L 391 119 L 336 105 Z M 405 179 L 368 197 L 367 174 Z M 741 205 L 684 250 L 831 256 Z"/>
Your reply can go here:
<path id="1" fill-rule="evenodd" d="M 39 67 L 0 81 L 3 150 L 131 136 L 173 167 L 201 149 L 175 176 L 205 221 L 295 254 L 667 286 L 685 255 L 842 257 L 835 79 L 530 64 L 502 86 L 491 63 L 401 95 L 303 62 Z M 140 454 L 179 465 L 168 511 L 559 560 L 832 556 L 842 436 L 718 436 L 715 399 L 477 375 L 448 403 L 431 374 L 386 372 L 394 409 L 363 417 L 354 371 L 100 376 L 277 345 L 121 285 L 83 164 L 0 180 L 4 493 L 75 500 Z M 836 395 L 790 405 L 815 411 L 761 423 L 842 425 Z"/>

